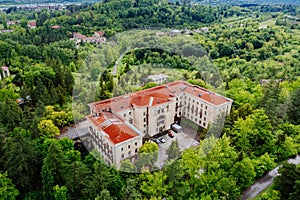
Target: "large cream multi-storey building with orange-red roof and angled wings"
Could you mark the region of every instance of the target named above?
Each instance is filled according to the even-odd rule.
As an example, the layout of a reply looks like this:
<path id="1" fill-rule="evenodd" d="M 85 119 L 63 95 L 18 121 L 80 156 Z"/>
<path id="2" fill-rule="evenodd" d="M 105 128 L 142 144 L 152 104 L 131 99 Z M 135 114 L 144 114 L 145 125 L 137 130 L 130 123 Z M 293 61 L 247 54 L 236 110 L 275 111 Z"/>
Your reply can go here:
<path id="1" fill-rule="evenodd" d="M 220 114 L 229 114 L 232 100 L 176 81 L 89 104 L 93 145 L 108 164 L 119 167 L 142 146 L 143 137 L 170 129 L 180 117 L 207 128 Z M 180 142 L 180 141 L 179 141 Z"/>

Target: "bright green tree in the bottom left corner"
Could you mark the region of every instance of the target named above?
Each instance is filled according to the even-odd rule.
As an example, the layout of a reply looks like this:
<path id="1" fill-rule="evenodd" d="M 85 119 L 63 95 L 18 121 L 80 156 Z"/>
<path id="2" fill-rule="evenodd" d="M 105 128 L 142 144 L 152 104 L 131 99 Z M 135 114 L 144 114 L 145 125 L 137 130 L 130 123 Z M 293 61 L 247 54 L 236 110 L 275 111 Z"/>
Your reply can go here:
<path id="1" fill-rule="evenodd" d="M 14 200 L 18 195 L 19 191 L 12 184 L 11 179 L 7 177 L 7 173 L 0 173 L 0 199 Z"/>

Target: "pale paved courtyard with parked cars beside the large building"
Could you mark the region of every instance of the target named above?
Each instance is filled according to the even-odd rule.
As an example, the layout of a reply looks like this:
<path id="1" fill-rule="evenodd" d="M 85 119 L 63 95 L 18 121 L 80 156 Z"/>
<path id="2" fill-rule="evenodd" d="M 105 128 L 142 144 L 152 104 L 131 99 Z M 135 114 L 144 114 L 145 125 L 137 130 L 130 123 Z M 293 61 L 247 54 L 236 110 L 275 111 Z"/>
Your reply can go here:
<path id="1" fill-rule="evenodd" d="M 199 134 L 197 133 L 197 129 L 189 126 L 188 124 L 182 123 L 182 131 L 180 133 L 175 133 L 174 137 L 171 138 L 168 134 L 162 136 L 164 138 L 165 143 L 160 142 L 158 144 L 158 160 L 155 163 L 157 167 L 160 169 L 164 166 L 165 162 L 168 160 L 168 155 L 166 154 L 166 150 L 169 148 L 172 141 L 177 139 L 178 145 L 181 151 L 188 149 L 193 146 L 199 145 Z"/>

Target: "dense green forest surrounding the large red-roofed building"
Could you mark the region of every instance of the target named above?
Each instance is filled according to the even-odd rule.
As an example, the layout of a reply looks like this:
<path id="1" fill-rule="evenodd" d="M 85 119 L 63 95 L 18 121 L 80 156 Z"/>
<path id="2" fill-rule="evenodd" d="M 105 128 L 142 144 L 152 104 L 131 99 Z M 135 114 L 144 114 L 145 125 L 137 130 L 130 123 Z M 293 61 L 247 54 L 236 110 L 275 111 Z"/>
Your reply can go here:
<path id="1" fill-rule="evenodd" d="M 0 199 L 238 199 L 300 151 L 299 17 L 294 5 L 212 7 L 158 0 L 1 12 L 0 30 L 12 31 L 0 33 L 0 66 L 10 71 L 0 80 Z M 36 28 L 28 27 L 32 21 Z M 136 35 L 121 34 L 125 42 L 117 50 L 113 42 L 77 46 L 70 40 L 73 32 L 105 31 L 114 41 L 138 28 L 143 31 Z M 165 42 L 161 50 L 151 46 L 151 28 L 181 32 L 153 36 Z M 174 41 L 181 46 L 172 46 Z M 110 73 L 120 50 L 133 44 L 117 74 Z M 191 53 L 197 45 L 201 51 Z M 57 139 L 60 129 L 84 118 L 86 103 L 131 91 L 130 80 L 150 73 L 143 68 L 151 63 L 234 100 L 220 138 L 203 137 L 199 146 L 183 152 L 173 143 L 170 162 L 152 172 L 142 170 L 143 162 L 153 163 L 157 156 L 136 165 L 125 160 L 119 171 L 107 167 L 97 152 Z M 216 69 L 218 76 L 207 69 Z M 90 98 L 91 82 L 97 94 Z M 141 90 L 154 84 L 131 85 Z M 147 145 L 139 154 L 156 155 L 157 148 Z M 134 168 L 141 173 L 127 173 Z M 284 163 L 257 199 L 299 199 L 299 179 L 299 165 Z"/>

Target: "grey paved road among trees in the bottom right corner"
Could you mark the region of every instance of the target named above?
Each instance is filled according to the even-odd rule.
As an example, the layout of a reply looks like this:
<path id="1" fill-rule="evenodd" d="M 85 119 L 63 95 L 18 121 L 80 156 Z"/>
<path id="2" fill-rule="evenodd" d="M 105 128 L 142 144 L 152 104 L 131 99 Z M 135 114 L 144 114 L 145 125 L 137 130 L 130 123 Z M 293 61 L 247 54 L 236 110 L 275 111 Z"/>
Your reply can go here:
<path id="1" fill-rule="evenodd" d="M 296 158 L 291 158 L 287 161 L 288 163 L 293 164 L 299 164 L 300 163 L 300 155 L 298 155 Z M 251 185 L 248 189 L 246 189 L 243 193 L 240 199 L 246 200 L 246 199 L 253 199 L 257 195 L 259 195 L 262 191 L 264 191 L 267 187 L 269 187 L 274 178 L 278 176 L 278 169 L 282 165 L 279 165 L 278 167 L 271 170 L 267 175 L 263 176 L 261 179 L 259 179 L 256 183 Z"/>

